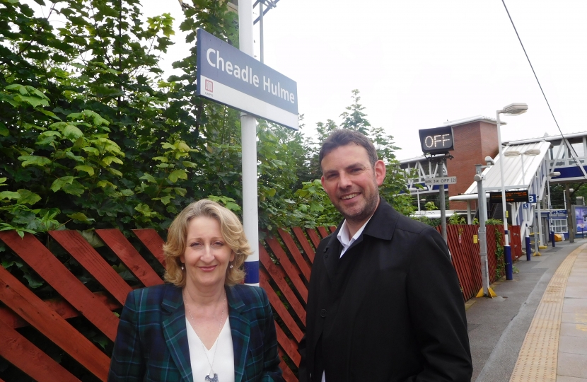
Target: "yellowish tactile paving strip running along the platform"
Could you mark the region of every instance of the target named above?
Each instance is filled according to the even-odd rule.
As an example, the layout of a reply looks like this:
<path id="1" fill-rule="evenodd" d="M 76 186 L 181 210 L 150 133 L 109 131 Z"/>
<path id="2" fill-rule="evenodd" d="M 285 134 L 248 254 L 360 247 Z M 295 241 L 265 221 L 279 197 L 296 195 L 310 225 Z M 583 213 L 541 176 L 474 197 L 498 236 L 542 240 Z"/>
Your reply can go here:
<path id="1" fill-rule="evenodd" d="M 556 382 L 559 333 L 566 280 L 571 268 L 587 244 L 574 250 L 554 272 L 538 304 L 536 313 L 513 368 L 510 382 Z"/>

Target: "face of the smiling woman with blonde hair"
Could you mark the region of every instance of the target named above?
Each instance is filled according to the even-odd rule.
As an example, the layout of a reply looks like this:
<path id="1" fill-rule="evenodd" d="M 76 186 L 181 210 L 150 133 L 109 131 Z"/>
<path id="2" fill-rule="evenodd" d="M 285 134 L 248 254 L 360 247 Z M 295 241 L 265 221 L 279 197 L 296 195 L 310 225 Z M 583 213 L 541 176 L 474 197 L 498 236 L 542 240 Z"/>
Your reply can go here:
<path id="1" fill-rule="evenodd" d="M 180 260 L 185 263 L 187 282 L 195 287 L 223 287 L 234 253 L 222 236 L 220 222 L 207 216 L 192 219 L 185 243 Z"/>

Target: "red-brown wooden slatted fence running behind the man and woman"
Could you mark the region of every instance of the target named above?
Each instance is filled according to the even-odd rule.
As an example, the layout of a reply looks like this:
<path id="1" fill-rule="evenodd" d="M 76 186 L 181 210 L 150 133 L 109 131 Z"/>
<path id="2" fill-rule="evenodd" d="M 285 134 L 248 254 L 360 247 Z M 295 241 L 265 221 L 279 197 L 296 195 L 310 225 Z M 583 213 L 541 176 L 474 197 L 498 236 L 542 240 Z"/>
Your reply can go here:
<path id="1" fill-rule="evenodd" d="M 501 226 L 496 227 L 503 232 Z M 297 349 L 305 330 L 307 285 L 314 251 L 320 240 L 332 231 L 334 227 L 320 227 L 316 230 L 279 229 L 278 236 L 268 236 L 260 243 L 260 284 L 267 291 L 277 316 L 281 369 L 288 382 L 297 381 L 297 365 L 300 361 Z M 519 228 L 511 227 L 511 231 L 512 253 L 516 251 L 518 255 L 519 250 L 521 255 Z M 136 277 L 136 282 L 124 281 L 113 269 L 112 257 L 108 257 L 110 262 L 106 260 L 104 248 L 98 252 L 77 231 L 50 232 L 47 246 L 59 246 L 69 253 L 69 260 L 54 255 L 33 235 L 25 234 L 21 239 L 16 232 L 0 232 L 0 241 L 60 296 L 43 301 L 25 287 L 26 282 L 23 284 L 22 280 L 0 267 L 0 356 L 37 381 L 79 381 L 80 376 L 72 374 L 71 370 L 43 352 L 37 337 L 27 336 L 21 328 L 33 326 L 92 374 L 91 378 L 105 381 L 109 357 L 68 320 L 82 316 L 108 340 L 113 341 L 118 318 L 112 311 L 120 312 L 127 293 L 135 287 L 149 287 L 163 282 L 149 265 L 149 262 L 165 263 L 163 239 L 156 231 L 135 230 L 136 238 L 129 239 L 116 229 L 95 232 L 105 248 L 117 259 L 114 262 L 124 265 Z M 475 234 L 477 226 L 448 226 L 448 246 L 465 300 L 475 296 L 481 288 L 479 245 L 472 240 Z M 487 229 L 487 244 L 490 274 L 494 282 L 496 245 L 494 230 L 490 226 Z M 81 282 L 62 261 L 79 263 L 93 280 L 89 284 L 94 285 L 93 289 L 98 286 L 100 290 L 86 287 L 88 283 Z M 2 378 L 6 377 L 0 372 L 0 382 Z"/>

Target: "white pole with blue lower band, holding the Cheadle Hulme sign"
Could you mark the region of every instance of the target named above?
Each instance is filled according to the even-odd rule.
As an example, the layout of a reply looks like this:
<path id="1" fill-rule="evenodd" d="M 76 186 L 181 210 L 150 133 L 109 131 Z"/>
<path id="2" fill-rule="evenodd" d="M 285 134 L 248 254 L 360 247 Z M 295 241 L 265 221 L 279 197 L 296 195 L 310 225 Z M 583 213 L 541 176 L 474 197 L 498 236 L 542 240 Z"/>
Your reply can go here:
<path id="1" fill-rule="evenodd" d="M 238 0 L 238 43 L 240 50 L 253 57 L 252 0 Z M 245 284 L 259 285 L 259 212 L 257 208 L 257 121 L 244 112 L 240 115 L 243 153 L 243 227 L 252 254 L 245 260 Z"/>

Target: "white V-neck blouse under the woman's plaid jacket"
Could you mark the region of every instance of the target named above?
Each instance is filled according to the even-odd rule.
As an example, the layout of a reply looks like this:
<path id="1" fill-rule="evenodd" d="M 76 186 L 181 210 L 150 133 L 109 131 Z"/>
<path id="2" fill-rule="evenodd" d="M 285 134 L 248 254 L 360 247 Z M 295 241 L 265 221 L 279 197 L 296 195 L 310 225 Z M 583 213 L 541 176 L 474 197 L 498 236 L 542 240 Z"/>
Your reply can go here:
<path id="1" fill-rule="evenodd" d="M 185 327 L 187 328 L 187 345 L 190 347 L 190 360 L 192 362 L 192 375 L 194 382 L 204 382 L 204 378 L 210 373 L 210 364 L 208 359 L 214 366 L 214 373 L 218 374 L 219 382 L 234 382 L 234 350 L 233 337 L 231 335 L 230 320 L 226 318 L 226 322 L 222 327 L 220 335 L 216 338 L 216 342 L 210 349 L 206 349 L 202 341 L 197 336 L 190 321 L 185 318 Z M 216 355 L 214 355 L 214 351 Z M 206 358 L 207 352 L 208 359 Z M 214 377 L 214 374 L 210 377 Z"/>

